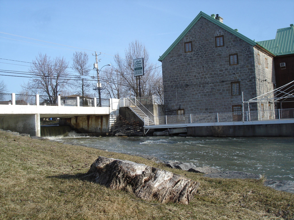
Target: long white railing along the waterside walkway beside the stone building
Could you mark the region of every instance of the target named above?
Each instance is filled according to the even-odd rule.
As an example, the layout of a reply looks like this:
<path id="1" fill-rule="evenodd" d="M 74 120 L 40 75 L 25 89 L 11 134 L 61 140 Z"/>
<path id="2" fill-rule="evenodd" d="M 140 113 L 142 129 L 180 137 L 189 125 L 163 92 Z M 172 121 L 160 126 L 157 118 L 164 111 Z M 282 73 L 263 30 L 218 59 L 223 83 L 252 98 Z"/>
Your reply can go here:
<path id="1" fill-rule="evenodd" d="M 155 125 L 218 123 L 218 122 L 236 122 L 236 121 L 267 121 L 267 120 L 277 120 L 277 119 L 294 119 L 294 109 L 153 116 L 153 122 L 155 123 Z M 146 117 L 144 124 L 146 126 L 149 125 L 148 117 Z"/>

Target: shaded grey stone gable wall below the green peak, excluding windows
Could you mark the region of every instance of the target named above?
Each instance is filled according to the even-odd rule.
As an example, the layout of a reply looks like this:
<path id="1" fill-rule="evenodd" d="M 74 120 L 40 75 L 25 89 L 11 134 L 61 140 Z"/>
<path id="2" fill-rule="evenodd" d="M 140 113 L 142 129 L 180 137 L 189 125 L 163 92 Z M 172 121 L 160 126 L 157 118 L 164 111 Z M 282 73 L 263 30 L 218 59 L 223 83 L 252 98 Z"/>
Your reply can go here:
<path id="1" fill-rule="evenodd" d="M 224 36 L 222 47 L 216 47 L 218 35 Z M 188 41 L 193 51 L 185 53 Z M 229 54 L 235 53 L 238 65 L 229 65 Z M 162 75 L 168 115 L 176 109 L 231 112 L 233 105 L 242 106 L 243 91 L 244 101 L 257 96 L 253 46 L 203 17 L 162 60 Z M 240 82 L 240 95 L 231 95 L 231 82 Z"/>

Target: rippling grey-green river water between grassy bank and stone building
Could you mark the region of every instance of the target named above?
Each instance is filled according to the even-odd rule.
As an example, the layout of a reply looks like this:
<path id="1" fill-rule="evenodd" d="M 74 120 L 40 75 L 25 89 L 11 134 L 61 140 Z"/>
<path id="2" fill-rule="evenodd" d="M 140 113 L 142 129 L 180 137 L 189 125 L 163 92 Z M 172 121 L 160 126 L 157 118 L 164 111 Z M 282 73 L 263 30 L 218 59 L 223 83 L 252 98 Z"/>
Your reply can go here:
<path id="1" fill-rule="evenodd" d="M 72 133 L 68 137 L 49 138 L 119 153 L 154 155 L 159 160 L 264 174 L 267 179 L 294 181 L 293 137 L 78 137 Z"/>

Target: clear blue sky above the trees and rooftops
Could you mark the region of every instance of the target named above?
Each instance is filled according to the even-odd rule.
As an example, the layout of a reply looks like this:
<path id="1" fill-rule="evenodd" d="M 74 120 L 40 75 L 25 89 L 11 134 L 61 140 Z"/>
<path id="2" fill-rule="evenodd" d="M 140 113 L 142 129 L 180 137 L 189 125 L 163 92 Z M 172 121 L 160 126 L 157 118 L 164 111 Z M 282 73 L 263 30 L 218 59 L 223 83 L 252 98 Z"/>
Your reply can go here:
<path id="1" fill-rule="evenodd" d="M 293 0 L 0 0 L 0 80 L 9 93 L 18 93 L 28 78 L 3 75 L 28 71 L 26 62 L 38 53 L 65 57 L 71 65 L 74 51 L 88 53 L 92 63 L 97 51 L 102 67 L 113 63 L 116 53 L 123 57 L 135 40 L 146 46 L 150 62 L 160 66 L 159 56 L 200 11 L 219 14 L 224 24 L 256 41 L 274 39 L 278 28 L 294 23 Z"/>

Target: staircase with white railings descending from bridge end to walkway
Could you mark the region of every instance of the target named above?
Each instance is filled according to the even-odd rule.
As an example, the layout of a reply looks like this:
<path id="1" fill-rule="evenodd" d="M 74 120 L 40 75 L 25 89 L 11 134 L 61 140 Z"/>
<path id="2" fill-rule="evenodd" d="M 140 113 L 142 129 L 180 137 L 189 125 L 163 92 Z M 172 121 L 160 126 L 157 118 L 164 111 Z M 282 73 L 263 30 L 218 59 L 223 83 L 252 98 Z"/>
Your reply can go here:
<path id="1" fill-rule="evenodd" d="M 154 115 L 136 98 L 124 98 L 120 102 L 120 106 L 129 107 L 144 122 L 144 125 L 155 125 Z"/>

